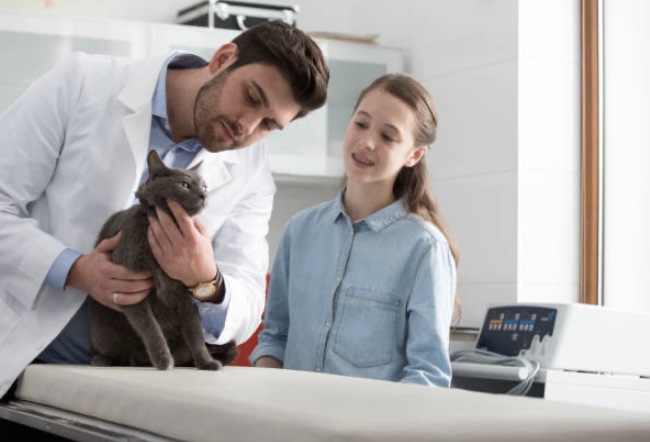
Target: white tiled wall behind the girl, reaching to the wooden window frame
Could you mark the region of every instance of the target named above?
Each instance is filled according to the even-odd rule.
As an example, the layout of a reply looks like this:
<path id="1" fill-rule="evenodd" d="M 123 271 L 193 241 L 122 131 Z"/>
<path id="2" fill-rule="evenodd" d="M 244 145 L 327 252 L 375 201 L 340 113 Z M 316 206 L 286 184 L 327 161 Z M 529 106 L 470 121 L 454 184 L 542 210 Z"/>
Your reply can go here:
<path id="1" fill-rule="evenodd" d="M 171 22 L 193 3 L 0 0 L 0 10 Z M 460 247 L 462 325 L 478 326 L 489 303 L 577 300 L 578 0 L 296 3 L 306 31 L 403 48 L 437 102 L 427 161 Z M 271 251 L 291 214 L 335 190 L 279 183 Z"/>

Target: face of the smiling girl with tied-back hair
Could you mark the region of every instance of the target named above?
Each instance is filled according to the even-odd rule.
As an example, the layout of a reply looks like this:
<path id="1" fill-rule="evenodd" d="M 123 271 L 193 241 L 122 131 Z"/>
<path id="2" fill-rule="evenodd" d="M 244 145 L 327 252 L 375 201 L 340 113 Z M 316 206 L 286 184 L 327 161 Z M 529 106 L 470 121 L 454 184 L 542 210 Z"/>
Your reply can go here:
<path id="1" fill-rule="evenodd" d="M 413 166 L 425 152 L 415 146 L 415 127 L 415 113 L 403 101 L 381 89 L 368 92 L 343 142 L 348 181 L 392 189 L 402 167 Z"/>

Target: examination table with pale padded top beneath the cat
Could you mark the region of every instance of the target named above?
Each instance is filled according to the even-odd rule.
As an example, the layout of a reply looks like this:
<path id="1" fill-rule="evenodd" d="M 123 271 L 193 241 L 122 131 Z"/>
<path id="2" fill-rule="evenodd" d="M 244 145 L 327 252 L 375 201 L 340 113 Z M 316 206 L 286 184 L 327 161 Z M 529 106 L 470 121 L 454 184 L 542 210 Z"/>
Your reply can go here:
<path id="1" fill-rule="evenodd" d="M 650 441 L 650 414 L 321 373 L 34 364 L 0 418 L 77 441 Z"/>

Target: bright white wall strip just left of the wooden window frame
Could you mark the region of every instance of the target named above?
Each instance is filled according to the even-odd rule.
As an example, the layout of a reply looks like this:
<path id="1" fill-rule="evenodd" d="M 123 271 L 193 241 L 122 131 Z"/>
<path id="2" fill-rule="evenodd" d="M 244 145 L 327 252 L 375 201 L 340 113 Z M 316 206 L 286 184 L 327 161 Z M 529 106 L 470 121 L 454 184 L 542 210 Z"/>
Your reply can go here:
<path id="1" fill-rule="evenodd" d="M 522 302 L 577 302 L 580 4 L 519 4 L 518 278 Z"/>

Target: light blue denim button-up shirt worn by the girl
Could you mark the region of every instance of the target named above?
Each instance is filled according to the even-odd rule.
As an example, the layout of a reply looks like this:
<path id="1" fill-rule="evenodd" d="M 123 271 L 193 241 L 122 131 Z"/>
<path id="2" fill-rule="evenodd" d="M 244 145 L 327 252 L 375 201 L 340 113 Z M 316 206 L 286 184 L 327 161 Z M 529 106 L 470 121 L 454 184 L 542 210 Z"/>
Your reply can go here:
<path id="1" fill-rule="evenodd" d="M 448 387 L 456 267 L 445 236 L 403 200 L 351 223 L 344 191 L 285 226 L 251 362 Z"/>

